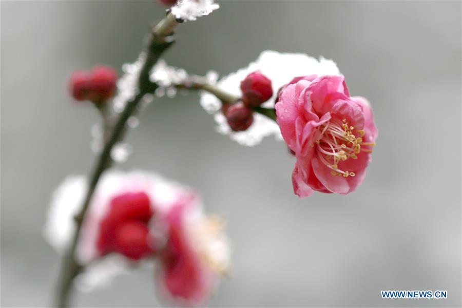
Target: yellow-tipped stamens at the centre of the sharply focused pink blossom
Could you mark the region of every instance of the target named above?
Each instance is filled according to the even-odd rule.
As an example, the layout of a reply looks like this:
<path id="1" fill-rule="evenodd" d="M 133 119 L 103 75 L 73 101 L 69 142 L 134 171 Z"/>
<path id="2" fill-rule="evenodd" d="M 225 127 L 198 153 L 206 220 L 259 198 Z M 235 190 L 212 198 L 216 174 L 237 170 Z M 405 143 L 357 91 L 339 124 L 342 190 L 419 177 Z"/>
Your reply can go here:
<path id="1" fill-rule="evenodd" d="M 321 162 L 328 166 L 333 176 L 354 177 L 355 172 L 341 170 L 338 168 L 340 161 L 358 159 L 359 152 L 372 152 L 371 149 L 361 148 L 362 146 L 374 146 L 372 142 L 362 142 L 364 130 L 358 130 L 349 126 L 347 120 L 342 121 L 331 119 L 319 126 L 321 138 L 316 140 L 316 149 Z M 356 137 L 356 135 L 360 137 Z"/>

